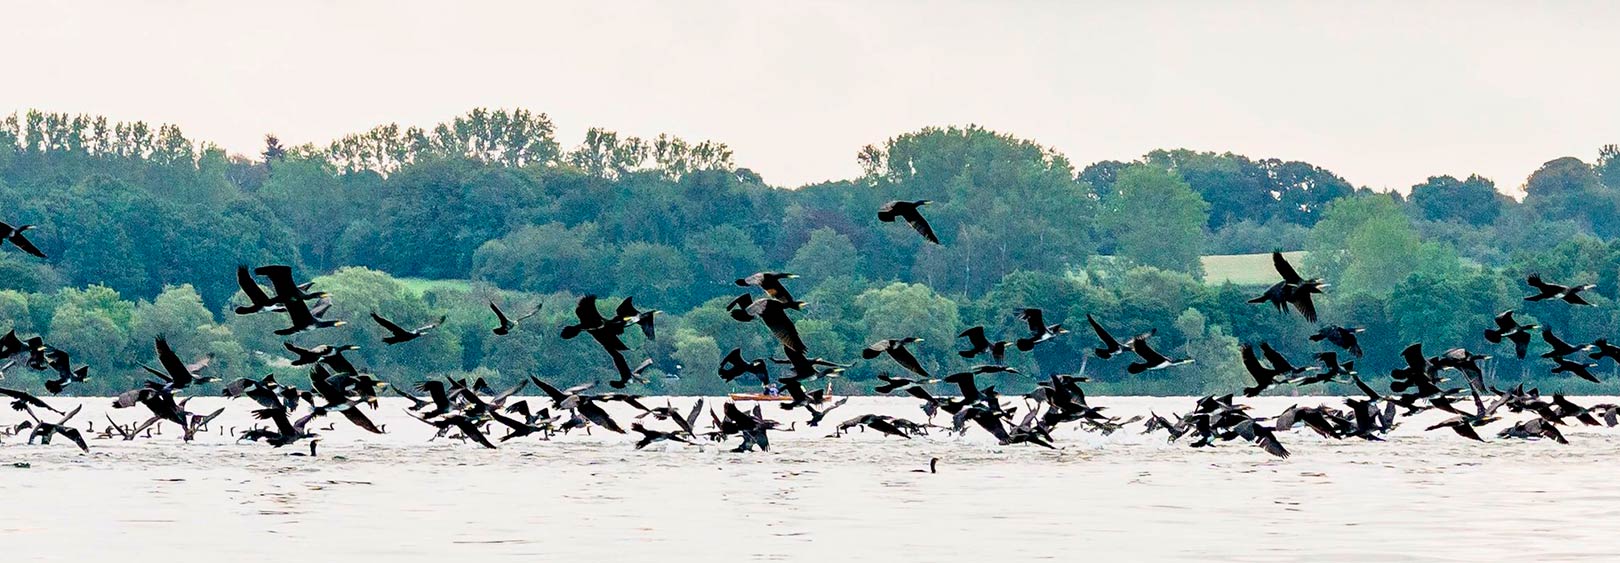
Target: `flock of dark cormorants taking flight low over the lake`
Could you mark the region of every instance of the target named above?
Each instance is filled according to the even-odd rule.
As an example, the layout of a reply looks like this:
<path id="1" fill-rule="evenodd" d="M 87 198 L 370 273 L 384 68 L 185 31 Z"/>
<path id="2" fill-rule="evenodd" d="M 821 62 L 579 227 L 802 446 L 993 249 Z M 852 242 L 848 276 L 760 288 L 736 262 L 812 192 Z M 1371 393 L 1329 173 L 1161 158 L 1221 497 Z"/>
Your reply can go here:
<path id="1" fill-rule="evenodd" d="M 878 218 L 883 222 L 904 220 L 927 241 L 938 244 L 932 226 L 920 214 L 927 204 L 928 201 L 888 202 L 878 210 Z M 0 244 L 11 243 L 28 254 L 44 257 L 24 236 L 29 228 L 28 225 L 13 228 L 0 223 Z M 1315 324 L 1312 296 L 1324 293 L 1328 285 L 1322 280 L 1301 277 L 1280 252 L 1273 252 L 1272 259 L 1281 280 L 1251 303 L 1272 304 L 1281 312 L 1291 309 L 1304 320 Z M 267 282 L 267 288 L 259 283 L 261 278 Z M 786 393 L 779 408 L 784 411 L 804 409 L 808 414 L 807 427 L 818 427 L 833 409 L 844 406 L 847 398 L 834 400 L 828 395 L 829 387 L 821 388 L 812 383 L 839 377 L 850 366 L 816 358 L 805 348 L 789 315 L 789 311 L 800 311 L 805 306 L 804 301 L 794 299 L 786 285 L 792 278 L 795 278 L 792 273 L 760 272 L 735 280 L 737 286 L 750 288 L 750 291 L 732 299 L 726 307 L 727 312 L 737 322 L 765 325 L 781 345 L 782 358 L 747 359 L 742 349 L 735 348 L 724 356 L 716 372 L 726 382 L 750 375 L 760 385 L 779 388 Z M 290 337 L 345 324 L 340 319 L 329 319 L 330 298 L 322 291 L 311 291 L 311 283 L 298 283 L 287 265 L 262 265 L 251 270 L 238 267 L 237 282 L 246 304 L 235 307 L 235 314 L 285 315 L 287 327 L 275 330 L 277 335 Z M 1591 285 L 1555 285 L 1537 275 L 1531 275 L 1528 283 L 1537 293 L 1524 298 L 1526 301 L 1563 301 L 1570 306 L 1586 306 L 1581 293 L 1592 288 Z M 496 324 L 491 332 L 497 337 L 512 333 L 518 324 L 539 312 L 536 306 L 522 315 L 509 315 L 492 301 L 489 309 Z M 402 390 L 350 362 L 343 354 L 358 348 L 352 343 L 313 348 L 285 343 L 287 351 L 293 356 L 288 362 L 309 370 L 306 387 L 300 387 L 301 382 L 277 380 L 274 374 L 262 379 L 220 382 L 207 375 L 209 358 L 186 362 L 165 338 L 159 337 L 154 343 L 156 367 L 141 364 L 151 379 L 118 395 L 112 403 L 115 409 L 144 408 L 149 413 L 144 421 L 118 424 L 109 416 L 109 424 L 99 434 L 94 422 L 89 422 L 81 432 L 79 427 L 71 425 L 79 408 L 63 413 L 29 392 L 0 387 L 0 395 L 11 401 L 11 408 L 28 414 L 28 421 L 21 424 L 0 427 L 0 435 L 28 432 L 29 443 L 50 443 L 53 437 L 60 435 L 87 451 L 86 434 L 91 438 L 149 438 L 160 435 L 162 424 L 168 422 L 180 429 L 181 440 L 191 440 L 198 434 L 207 432 L 209 424 L 224 413 L 224 408 L 207 414 L 186 409 L 188 393 L 209 383 L 220 383 L 215 395 L 232 400 L 246 398 L 253 403 L 253 417 L 261 424 L 241 432 L 232 429 L 230 435 L 238 442 L 264 442 L 277 448 L 305 442 L 311 456 L 316 455 L 316 445 L 321 440 L 318 430 L 332 430 L 337 424 L 313 427 L 314 421 L 321 417 L 342 416 L 348 424 L 364 432 L 384 434 L 386 425 L 374 424 L 366 413 L 377 408 L 377 400 L 386 392 L 405 398 L 410 403 L 407 409 L 411 417 L 431 425 L 436 438 L 452 437 L 486 448 L 496 448 L 496 443 L 517 438 L 549 440 L 559 434 L 599 429 L 614 434 L 635 432 L 640 435 L 635 443 L 638 450 L 658 442 L 735 440 L 737 445 L 732 451 L 768 451 L 771 430 L 795 430 L 797 424 L 784 427 L 779 421 L 770 419 L 758 403 L 744 408 L 739 401 L 726 401 L 716 413 L 713 408 L 705 411 L 705 401 L 698 398 L 690 408 L 677 409 L 669 401 L 664 406 L 648 406 L 642 401 L 643 396 L 624 392 L 632 383 L 648 383 L 643 372 L 653 366 L 651 359 L 645 359 L 637 367 L 630 367 L 625 354 L 632 348 L 625 345 L 625 335 L 654 340 L 658 312 L 656 309 L 638 309 L 627 298 L 611 314 L 603 314 L 596 298 L 585 296 L 575 306 L 575 322 L 561 328 L 561 338 L 588 335 L 608 354 L 617 374 L 617 379 L 606 382 L 611 390 L 598 390 L 598 383 L 557 388 L 536 377 L 528 377 L 504 390 L 491 388 L 483 379 L 467 382 L 449 377 L 418 382 L 410 390 Z M 1259 346 L 1243 345 L 1243 366 L 1254 379 L 1254 385 L 1244 387 L 1241 395 L 1257 396 L 1281 385 L 1354 383 L 1361 395 L 1345 398 L 1341 408 L 1294 404 L 1277 416 L 1254 416 L 1249 413 L 1249 406 L 1234 400 L 1238 393 L 1233 393 L 1199 398 L 1189 411 L 1171 417 L 1149 413 L 1145 417 L 1124 419 L 1105 414 L 1105 406 L 1087 403 L 1085 392 L 1081 388 L 1081 383 L 1087 382 L 1085 362 L 1082 362 L 1082 374 L 1037 377 L 1037 387 L 1030 393 L 1004 400 L 993 385 L 980 387 L 977 377 L 1019 374 L 1017 369 L 1008 366 L 1008 354 L 1014 351 L 1030 353 L 1037 346 L 1069 333 L 1061 324 L 1047 324 L 1040 309 L 1019 309 L 1016 315 L 1027 330 L 1014 335 L 1013 340 L 991 340 L 983 327 L 961 332 L 957 338 L 966 341 L 966 348 L 959 349 L 957 354 L 964 361 L 978 361 L 978 364 L 944 377 L 930 374 L 910 351 L 910 346 L 922 343 L 922 338 L 897 337 L 872 343 L 862 351 L 862 361 L 886 361 L 899 367 L 894 374 L 876 375 L 880 385 L 875 387 L 875 392 L 880 395 L 904 393 L 919 400 L 923 419 L 860 414 L 833 425 L 831 437 L 842 437 L 859 429 L 894 438 L 914 438 L 932 432 L 962 435 L 977 427 L 1001 445 L 1027 443 L 1056 448 L 1051 430 L 1059 425 L 1072 424 L 1087 432 L 1113 434 L 1145 419 L 1142 434 L 1165 432 L 1171 442 L 1186 438 L 1192 447 L 1210 447 L 1241 440 L 1270 455 L 1286 458 L 1290 453 L 1280 442 L 1278 432 L 1304 425 L 1335 440 L 1383 440 L 1383 435 L 1398 424 L 1398 417 L 1429 409 L 1453 416 L 1427 427 L 1427 430 L 1452 430 L 1469 440 L 1484 440 L 1479 429 L 1498 421 L 1498 413 L 1503 409 L 1531 416 L 1497 432 L 1498 438 L 1550 438 L 1558 443 L 1567 443 L 1558 427 L 1571 424 L 1570 421 L 1612 427 L 1620 417 L 1617 404 L 1580 406 L 1563 395 L 1544 396 L 1539 390 L 1523 385 L 1508 390 L 1497 388 L 1486 382 L 1479 366 L 1490 356 L 1463 348 L 1426 356 L 1421 343 L 1403 351 L 1405 366 L 1392 372 L 1390 390 L 1379 392 L 1359 377 L 1354 359 L 1340 359 L 1340 353 L 1361 358 L 1358 335 L 1362 333 L 1362 328 L 1340 325 L 1319 325 L 1311 340 L 1332 349 L 1317 353 L 1311 364 L 1294 364 L 1264 341 Z M 386 332 L 382 343 L 387 346 L 408 345 L 429 337 L 444 322 L 441 317 L 437 322 L 407 328 L 407 325 L 376 312 L 371 314 L 371 319 Z M 1173 369 L 1192 362 L 1189 358 L 1170 358 L 1153 349 L 1150 340 L 1155 332 L 1152 330 L 1119 340 L 1095 317 L 1087 315 L 1085 320 L 1098 341 L 1092 354 L 1100 361 L 1129 358 L 1131 362 L 1126 366 L 1129 374 Z M 632 330 L 632 327 L 635 328 Z M 1513 353 L 1524 358 L 1533 338 L 1531 333 L 1537 328 L 1541 327 L 1520 324 L 1513 317 L 1513 311 L 1507 311 L 1495 317 L 1495 327 L 1487 328 L 1484 335 L 1490 343 L 1510 341 Z M 1550 346 L 1550 351 L 1542 358 L 1555 361 L 1554 372 L 1597 382 L 1591 372 L 1596 364 L 1586 359 L 1620 362 L 1620 346 L 1605 340 L 1571 345 L 1550 328 L 1542 328 L 1541 335 Z M 21 338 L 15 330 L 0 337 L 0 362 L 5 362 L 0 367 L 0 380 L 5 377 L 3 372 L 18 362 L 34 370 L 53 372 L 55 379 L 45 382 L 45 392 L 50 395 L 60 395 L 73 383 L 89 377 L 89 369 L 76 366 L 68 351 L 50 346 L 40 337 Z M 773 369 L 773 366 L 776 367 Z M 1452 385 L 1452 374 L 1460 374 L 1463 383 Z M 954 393 L 936 395 L 938 387 L 933 387 L 936 383 L 943 383 L 943 388 Z M 533 398 L 533 403 L 520 398 L 528 385 L 541 392 Z M 635 409 L 635 421 L 629 424 L 629 429 L 604 408 L 616 401 Z M 1022 414 L 1019 414 L 1021 409 Z M 708 414 L 706 421 L 705 413 Z M 663 429 L 650 427 L 653 422 L 661 422 Z M 491 440 L 496 432 L 502 432 L 502 435 Z M 935 471 L 936 464 L 938 459 L 933 459 L 928 471 Z"/>

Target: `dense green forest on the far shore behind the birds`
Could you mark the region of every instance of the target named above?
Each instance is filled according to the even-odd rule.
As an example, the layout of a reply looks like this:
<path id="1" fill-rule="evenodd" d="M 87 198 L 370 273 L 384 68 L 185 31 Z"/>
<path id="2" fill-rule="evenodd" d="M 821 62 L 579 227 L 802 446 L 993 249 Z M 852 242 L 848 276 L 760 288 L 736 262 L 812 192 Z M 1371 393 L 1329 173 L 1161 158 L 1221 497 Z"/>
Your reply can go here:
<path id="1" fill-rule="evenodd" d="M 1009 338 L 1021 330 L 1013 311 L 1040 307 L 1074 332 L 1013 356 L 1022 374 L 1001 375 L 1003 388 L 1084 369 L 1097 393 L 1192 395 L 1247 382 L 1241 343 L 1315 351 L 1304 338 L 1315 325 L 1246 303 L 1264 286 L 1204 282 L 1202 256 L 1281 249 L 1307 251 L 1302 270 L 1332 283 L 1324 322 L 1367 328 L 1358 362 L 1367 379 L 1424 341 L 1494 354 L 1502 383 L 1599 392 L 1549 374 L 1534 354 L 1513 359 L 1482 330 L 1518 309 L 1571 341 L 1620 337 L 1615 146 L 1591 163 L 1545 162 L 1523 180 L 1523 201 L 1481 176 L 1434 176 L 1401 196 L 1306 162 L 1179 149 L 1081 167 L 977 126 L 904 133 L 852 157 L 857 180 L 782 188 L 721 142 L 591 129 L 562 147 L 551 120 L 525 110 L 473 110 L 429 129 L 384 125 L 327 146 L 267 136 L 251 157 L 175 126 L 11 115 L 0 121 L 0 220 L 37 225 L 29 238 L 49 259 L 0 252 L 0 332 L 42 335 L 89 364 L 78 393 L 136 385 L 159 335 L 183 356 L 212 354 L 219 377 L 295 372 L 275 320 L 230 314 L 243 301 L 235 269 L 277 262 L 352 320 L 293 341 L 361 345 L 355 361 L 395 383 L 455 372 L 492 383 L 611 379 L 593 343 L 557 338 L 573 301 L 598 294 L 663 311 L 658 338 L 633 340 L 632 353 L 679 379 L 638 392 L 723 393 L 714 367 L 726 351 L 773 353 L 768 333 L 726 314 L 740 293 L 732 280 L 784 270 L 800 275 L 789 280 L 808 303 L 799 330 L 825 358 L 922 337 L 927 367 L 961 369 L 957 332 L 985 325 Z M 943 244 L 876 222 L 891 199 L 933 201 Z M 1533 272 L 1596 283 L 1596 306 L 1521 301 Z M 543 309 L 494 338 L 491 301 Z M 410 346 L 382 346 L 369 312 L 449 320 Z M 1095 345 L 1085 314 L 1116 333 L 1157 328 L 1160 351 L 1196 362 L 1145 375 L 1082 366 Z M 855 361 L 836 392 L 870 390 L 878 369 Z M 40 375 L 5 377 L 37 387 Z"/>

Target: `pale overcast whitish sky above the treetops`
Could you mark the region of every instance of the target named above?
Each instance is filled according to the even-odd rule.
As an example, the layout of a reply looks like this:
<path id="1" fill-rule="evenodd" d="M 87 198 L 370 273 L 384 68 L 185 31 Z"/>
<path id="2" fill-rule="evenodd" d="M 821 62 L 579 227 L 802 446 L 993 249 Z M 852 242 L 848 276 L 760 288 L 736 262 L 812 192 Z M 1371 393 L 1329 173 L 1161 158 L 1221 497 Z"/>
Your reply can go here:
<path id="1" fill-rule="evenodd" d="M 258 154 L 473 107 L 729 144 L 771 184 L 978 123 L 1077 167 L 1158 147 L 1353 184 L 1620 142 L 1612 2 L 0 2 L 0 113 L 175 123 Z"/>

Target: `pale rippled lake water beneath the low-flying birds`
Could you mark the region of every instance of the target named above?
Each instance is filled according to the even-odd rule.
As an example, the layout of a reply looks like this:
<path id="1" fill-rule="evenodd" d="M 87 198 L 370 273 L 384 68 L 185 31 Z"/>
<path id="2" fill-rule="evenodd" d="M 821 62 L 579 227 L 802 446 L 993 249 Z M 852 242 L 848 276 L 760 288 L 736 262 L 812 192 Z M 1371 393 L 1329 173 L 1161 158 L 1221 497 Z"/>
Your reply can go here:
<path id="1" fill-rule="evenodd" d="M 664 400 L 645 400 L 648 406 Z M 1578 398 L 1578 403 L 1599 401 Z M 73 400 L 52 400 L 66 409 Z M 73 422 L 144 419 L 86 400 Z M 535 401 L 531 401 L 535 403 Z M 690 406 L 690 398 L 674 398 Z M 1333 398 L 1249 400 L 1257 416 Z M 215 429 L 251 425 L 246 400 Z M 710 400 L 718 411 L 719 401 Z M 1094 396 L 1111 414 L 1191 398 Z M 917 401 L 854 398 L 821 429 L 773 432 L 771 453 L 573 434 L 484 450 L 426 442 L 405 403 L 369 413 L 387 435 L 332 417 L 321 456 L 303 443 L 58 440 L 0 445 L 6 561 L 1563 561 L 1620 560 L 1620 429 L 1567 429 L 1571 445 L 1468 442 L 1401 419 L 1388 442 L 1281 435 L 1293 458 L 1238 442 L 1165 443 L 1140 424 L 1103 437 L 1072 425 L 1061 450 L 967 437 L 828 438 L 857 414 L 922 419 Z M 616 416 L 629 427 L 627 409 Z M 802 411 L 766 404 L 784 424 Z M 19 413 L 0 413 L 15 424 Z M 706 425 L 706 416 L 703 425 Z M 1494 424 L 1495 430 L 1516 421 Z M 669 421 L 646 419 L 672 429 Z M 946 422 L 946 421 L 940 421 Z M 324 425 L 316 422 L 313 425 Z M 1481 432 L 1486 434 L 1486 432 Z M 940 472 L 912 472 L 941 458 Z M 31 468 L 13 468 L 28 463 Z M 222 557 L 228 555 L 228 557 Z"/>

